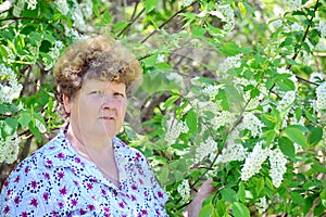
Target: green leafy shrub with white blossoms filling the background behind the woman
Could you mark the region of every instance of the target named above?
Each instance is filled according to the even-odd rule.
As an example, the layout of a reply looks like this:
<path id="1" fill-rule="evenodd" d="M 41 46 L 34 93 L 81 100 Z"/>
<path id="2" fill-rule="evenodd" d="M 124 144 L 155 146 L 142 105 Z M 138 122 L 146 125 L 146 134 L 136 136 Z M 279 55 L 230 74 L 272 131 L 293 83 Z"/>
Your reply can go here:
<path id="1" fill-rule="evenodd" d="M 205 179 L 200 216 L 326 214 L 324 1 L 0 2 L 1 182 L 62 124 L 53 62 L 110 33 L 145 73 L 120 137 L 148 157 L 171 216 Z"/>

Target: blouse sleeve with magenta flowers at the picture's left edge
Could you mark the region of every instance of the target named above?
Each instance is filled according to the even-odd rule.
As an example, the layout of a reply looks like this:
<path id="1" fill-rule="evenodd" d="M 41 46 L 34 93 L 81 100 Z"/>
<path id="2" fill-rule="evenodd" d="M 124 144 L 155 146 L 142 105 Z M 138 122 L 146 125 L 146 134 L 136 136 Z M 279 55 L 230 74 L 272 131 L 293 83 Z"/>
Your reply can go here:
<path id="1" fill-rule="evenodd" d="M 0 216 L 45 216 L 52 210 L 50 188 L 41 161 L 23 161 L 5 180 L 0 195 Z"/>

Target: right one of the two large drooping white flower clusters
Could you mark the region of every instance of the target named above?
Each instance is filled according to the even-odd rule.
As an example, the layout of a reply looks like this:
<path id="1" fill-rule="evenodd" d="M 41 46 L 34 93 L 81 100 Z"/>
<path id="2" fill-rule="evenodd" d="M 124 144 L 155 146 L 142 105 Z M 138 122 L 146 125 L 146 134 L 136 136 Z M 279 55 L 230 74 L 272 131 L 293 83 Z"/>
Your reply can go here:
<path id="1" fill-rule="evenodd" d="M 271 163 L 269 175 L 272 178 L 272 183 L 278 188 L 281 184 L 283 175 L 287 170 L 287 158 L 278 148 L 271 150 L 268 156 Z"/>

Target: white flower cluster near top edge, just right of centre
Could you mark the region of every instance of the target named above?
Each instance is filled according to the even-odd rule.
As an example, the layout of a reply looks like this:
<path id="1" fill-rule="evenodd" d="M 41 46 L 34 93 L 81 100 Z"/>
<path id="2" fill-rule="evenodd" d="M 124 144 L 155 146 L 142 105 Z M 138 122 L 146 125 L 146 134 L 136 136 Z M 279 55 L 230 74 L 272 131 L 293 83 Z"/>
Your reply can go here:
<path id="1" fill-rule="evenodd" d="M 211 14 L 217 16 L 225 23 L 223 26 L 224 30 L 231 31 L 235 28 L 235 12 L 230 4 L 218 4 L 216 11 L 211 12 Z"/>

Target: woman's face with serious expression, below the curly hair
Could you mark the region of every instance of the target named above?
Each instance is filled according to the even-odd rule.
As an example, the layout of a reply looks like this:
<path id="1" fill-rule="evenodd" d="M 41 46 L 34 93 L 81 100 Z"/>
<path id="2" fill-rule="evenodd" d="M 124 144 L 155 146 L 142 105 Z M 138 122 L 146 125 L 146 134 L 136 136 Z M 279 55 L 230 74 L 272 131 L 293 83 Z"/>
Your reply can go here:
<path id="1" fill-rule="evenodd" d="M 112 139 L 123 126 L 127 107 L 126 86 L 86 79 L 66 104 L 74 133 L 80 141 L 83 137 Z"/>

